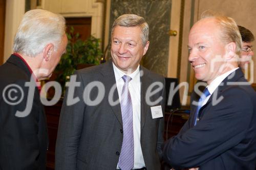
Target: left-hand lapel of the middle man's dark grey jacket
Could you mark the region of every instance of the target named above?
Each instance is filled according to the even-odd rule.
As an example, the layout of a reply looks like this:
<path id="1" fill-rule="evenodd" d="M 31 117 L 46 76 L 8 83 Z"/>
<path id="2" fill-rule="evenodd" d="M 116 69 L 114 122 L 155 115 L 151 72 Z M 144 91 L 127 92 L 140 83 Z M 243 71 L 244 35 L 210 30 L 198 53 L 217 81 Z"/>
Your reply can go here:
<path id="1" fill-rule="evenodd" d="M 114 73 L 112 61 L 105 63 L 105 65 L 101 69 L 101 74 L 103 75 L 103 80 L 100 80 L 100 81 L 102 81 L 102 83 L 105 85 L 106 98 L 109 98 L 110 91 L 115 86 L 115 90 L 113 93 L 113 99 L 111 99 L 111 100 L 114 102 L 117 100 L 119 101 L 118 91 L 116 88 L 115 73 Z M 111 106 L 113 113 L 115 114 L 118 122 L 120 123 L 121 126 L 123 126 L 120 103 L 118 102 L 118 104 L 116 104 L 114 106 L 112 106 L 110 104 L 110 106 Z"/>

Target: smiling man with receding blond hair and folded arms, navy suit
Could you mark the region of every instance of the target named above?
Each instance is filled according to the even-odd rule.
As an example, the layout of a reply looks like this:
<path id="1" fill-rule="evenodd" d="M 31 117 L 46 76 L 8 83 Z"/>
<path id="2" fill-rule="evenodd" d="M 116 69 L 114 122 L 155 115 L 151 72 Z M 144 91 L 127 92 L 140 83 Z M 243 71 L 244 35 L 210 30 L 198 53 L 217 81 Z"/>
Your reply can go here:
<path id="1" fill-rule="evenodd" d="M 173 168 L 255 169 L 256 94 L 238 67 L 241 42 L 232 18 L 209 11 L 191 28 L 188 60 L 207 88 L 164 146 Z"/>

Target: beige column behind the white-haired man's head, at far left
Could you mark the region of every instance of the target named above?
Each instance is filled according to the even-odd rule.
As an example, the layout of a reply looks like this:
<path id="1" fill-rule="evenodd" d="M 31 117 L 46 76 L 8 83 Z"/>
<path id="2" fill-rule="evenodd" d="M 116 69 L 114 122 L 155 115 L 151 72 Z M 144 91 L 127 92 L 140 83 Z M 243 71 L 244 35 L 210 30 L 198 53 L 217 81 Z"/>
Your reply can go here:
<path id="1" fill-rule="evenodd" d="M 6 1 L 4 62 L 12 54 L 14 35 L 25 13 L 25 0 Z"/>

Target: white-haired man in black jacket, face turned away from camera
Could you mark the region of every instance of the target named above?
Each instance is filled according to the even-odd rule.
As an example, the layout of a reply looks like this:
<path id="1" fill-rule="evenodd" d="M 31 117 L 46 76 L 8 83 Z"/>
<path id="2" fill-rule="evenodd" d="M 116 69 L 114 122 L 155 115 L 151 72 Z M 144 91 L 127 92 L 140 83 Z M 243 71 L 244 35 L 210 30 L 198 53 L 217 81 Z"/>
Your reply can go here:
<path id="1" fill-rule="evenodd" d="M 60 15 L 28 11 L 14 53 L 0 66 L 0 169 L 46 169 L 48 134 L 37 83 L 51 76 L 66 52 L 65 29 Z"/>

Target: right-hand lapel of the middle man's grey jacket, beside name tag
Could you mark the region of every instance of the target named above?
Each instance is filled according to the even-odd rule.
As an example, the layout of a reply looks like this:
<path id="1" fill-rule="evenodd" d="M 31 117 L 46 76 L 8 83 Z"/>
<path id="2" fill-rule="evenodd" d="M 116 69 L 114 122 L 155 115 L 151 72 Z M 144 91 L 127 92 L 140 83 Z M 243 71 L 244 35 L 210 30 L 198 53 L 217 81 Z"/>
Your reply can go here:
<path id="1" fill-rule="evenodd" d="M 150 113 L 150 106 L 146 104 L 146 90 L 148 86 L 152 83 L 152 79 L 148 77 L 148 71 L 140 66 L 140 115 L 141 115 L 141 132 L 146 122 L 146 115 Z"/>

